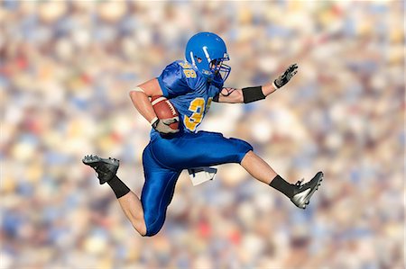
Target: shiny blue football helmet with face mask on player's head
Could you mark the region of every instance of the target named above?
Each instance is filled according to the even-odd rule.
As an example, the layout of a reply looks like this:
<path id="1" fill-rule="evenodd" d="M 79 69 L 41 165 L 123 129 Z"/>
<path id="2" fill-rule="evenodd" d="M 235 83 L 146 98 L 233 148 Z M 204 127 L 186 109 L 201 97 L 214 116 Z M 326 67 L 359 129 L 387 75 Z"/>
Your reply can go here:
<path id="1" fill-rule="evenodd" d="M 203 31 L 192 36 L 185 50 L 186 60 L 208 81 L 223 84 L 231 67 L 223 64 L 229 60 L 226 43 L 216 33 Z"/>

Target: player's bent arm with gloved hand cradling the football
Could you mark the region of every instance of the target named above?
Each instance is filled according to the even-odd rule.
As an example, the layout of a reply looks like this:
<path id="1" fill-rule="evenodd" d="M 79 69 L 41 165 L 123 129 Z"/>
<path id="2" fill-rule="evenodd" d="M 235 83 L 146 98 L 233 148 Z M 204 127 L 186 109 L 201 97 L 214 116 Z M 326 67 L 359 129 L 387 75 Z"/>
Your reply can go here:
<path id="1" fill-rule="evenodd" d="M 145 120 L 151 123 L 152 128 L 158 130 L 161 133 L 173 133 L 179 130 L 172 130 L 169 125 L 176 119 L 160 120 L 156 113 L 153 111 L 152 103 L 149 97 L 162 95 L 161 86 L 158 83 L 158 79 L 152 78 L 142 85 L 136 86 L 130 91 L 131 101 L 134 103 L 134 107 L 140 114 L 143 115 Z"/>

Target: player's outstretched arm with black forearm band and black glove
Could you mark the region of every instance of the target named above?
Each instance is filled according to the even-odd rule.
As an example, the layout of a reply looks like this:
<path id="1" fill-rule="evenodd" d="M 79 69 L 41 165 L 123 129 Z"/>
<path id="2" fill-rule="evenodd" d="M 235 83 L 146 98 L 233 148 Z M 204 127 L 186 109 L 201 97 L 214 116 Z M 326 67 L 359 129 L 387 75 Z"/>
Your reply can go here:
<path id="1" fill-rule="evenodd" d="M 277 89 L 286 85 L 291 77 L 298 71 L 296 64 L 288 67 L 281 76 L 278 76 L 272 83 L 267 83 L 261 86 L 245 87 L 242 89 L 235 88 L 223 88 L 219 94 L 217 94 L 213 101 L 218 103 L 252 103 L 258 100 L 265 99 L 266 96 L 272 94 Z"/>

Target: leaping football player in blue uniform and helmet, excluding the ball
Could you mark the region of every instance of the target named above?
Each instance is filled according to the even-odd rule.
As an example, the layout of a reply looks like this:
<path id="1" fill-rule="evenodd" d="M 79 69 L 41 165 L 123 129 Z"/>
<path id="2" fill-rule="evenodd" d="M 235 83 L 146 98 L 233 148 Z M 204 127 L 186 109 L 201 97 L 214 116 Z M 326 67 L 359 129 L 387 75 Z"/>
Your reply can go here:
<path id="1" fill-rule="evenodd" d="M 297 73 L 291 65 L 281 76 L 265 85 L 245 88 L 224 87 L 231 67 L 224 63 L 226 44 L 217 34 L 199 32 L 188 41 L 185 60 L 177 60 L 163 69 L 161 76 L 138 85 L 130 97 L 138 112 L 152 125 L 150 143 L 143 150 L 145 183 L 141 199 L 117 177 L 119 161 L 115 158 L 86 156 L 83 163 L 93 167 L 100 184 L 113 189 L 126 217 L 142 236 L 158 233 L 165 221 L 175 184 L 183 169 L 237 163 L 255 179 L 286 195 L 300 209 L 305 209 L 318 189 L 323 174 L 318 172 L 308 183 L 290 184 L 273 171 L 253 147 L 241 139 L 226 139 L 221 133 L 197 131 L 212 101 L 252 103 L 263 100 Z M 158 119 L 150 97 L 163 95 L 179 112 L 179 130 L 169 126 L 177 118 Z"/>

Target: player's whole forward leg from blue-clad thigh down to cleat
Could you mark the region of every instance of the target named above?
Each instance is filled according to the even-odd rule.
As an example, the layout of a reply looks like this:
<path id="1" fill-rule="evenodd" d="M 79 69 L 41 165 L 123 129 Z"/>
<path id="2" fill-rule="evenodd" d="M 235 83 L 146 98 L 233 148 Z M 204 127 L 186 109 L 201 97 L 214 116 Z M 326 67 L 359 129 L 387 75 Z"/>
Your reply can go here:
<path id="1" fill-rule="evenodd" d="M 284 193 L 302 209 L 306 208 L 311 195 L 323 179 L 323 174 L 319 172 L 307 184 L 290 184 L 277 175 L 261 157 L 256 156 L 247 142 L 226 139 L 221 133 L 199 131 L 180 139 L 158 139 L 155 146 L 165 148 L 160 155 L 163 164 L 181 169 L 226 163 L 241 164 L 254 178 Z"/>

